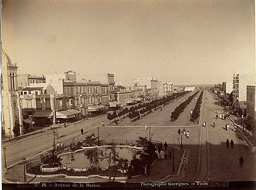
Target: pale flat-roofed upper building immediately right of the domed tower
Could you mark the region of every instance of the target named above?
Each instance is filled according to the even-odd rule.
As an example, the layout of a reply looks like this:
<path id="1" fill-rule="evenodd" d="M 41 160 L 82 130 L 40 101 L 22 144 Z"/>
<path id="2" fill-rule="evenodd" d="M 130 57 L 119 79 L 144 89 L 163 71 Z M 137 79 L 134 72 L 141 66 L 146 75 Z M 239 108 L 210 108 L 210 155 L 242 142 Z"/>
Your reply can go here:
<path id="1" fill-rule="evenodd" d="M 42 77 L 30 74 L 19 74 L 18 75 L 18 89 L 25 88 L 30 84 L 45 83 L 46 79 L 44 75 Z"/>

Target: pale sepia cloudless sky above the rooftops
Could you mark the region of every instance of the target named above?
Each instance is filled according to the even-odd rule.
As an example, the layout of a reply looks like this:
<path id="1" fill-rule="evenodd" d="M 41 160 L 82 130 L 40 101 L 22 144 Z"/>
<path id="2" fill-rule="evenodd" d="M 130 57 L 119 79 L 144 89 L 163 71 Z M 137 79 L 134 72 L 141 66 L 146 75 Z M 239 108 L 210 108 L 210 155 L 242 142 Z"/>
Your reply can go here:
<path id="1" fill-rule="evenodd" d="M 255 68 L 253 0 L 4 0 L 2 22 L 18 73 L 217 84 Z"/>

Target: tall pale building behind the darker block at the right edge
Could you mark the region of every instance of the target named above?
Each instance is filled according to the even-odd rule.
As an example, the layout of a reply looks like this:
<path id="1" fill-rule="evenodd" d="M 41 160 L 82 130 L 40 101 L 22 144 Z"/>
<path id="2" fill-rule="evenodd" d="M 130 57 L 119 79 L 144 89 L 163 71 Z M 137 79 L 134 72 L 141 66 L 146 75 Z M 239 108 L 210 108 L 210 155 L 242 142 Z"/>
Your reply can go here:
<path id="1" fill-rule="evenodd" d="M 246 108 L 246 85 L 255 85 L 254 74 L 233 75 L 233 96 L 234 106 Z"/>

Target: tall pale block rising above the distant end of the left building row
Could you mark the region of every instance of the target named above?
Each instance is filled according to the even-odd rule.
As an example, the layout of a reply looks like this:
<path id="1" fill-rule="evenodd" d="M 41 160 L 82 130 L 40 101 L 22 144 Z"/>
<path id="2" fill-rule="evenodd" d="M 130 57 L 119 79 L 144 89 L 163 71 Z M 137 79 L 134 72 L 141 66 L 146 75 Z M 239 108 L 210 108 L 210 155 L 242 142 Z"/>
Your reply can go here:
<path id="1" fill-rule="evenodd" d="M 146 85 L 147 86 L 147 96 L 154 99 L 158 97 L 158 79 L 156 77 L 149 77 L 146 79 L 143 79 L 141 77 L 138 77 L 136 79 L 133 79 L 134 83 L 137 83 L 138 86 Z"/>

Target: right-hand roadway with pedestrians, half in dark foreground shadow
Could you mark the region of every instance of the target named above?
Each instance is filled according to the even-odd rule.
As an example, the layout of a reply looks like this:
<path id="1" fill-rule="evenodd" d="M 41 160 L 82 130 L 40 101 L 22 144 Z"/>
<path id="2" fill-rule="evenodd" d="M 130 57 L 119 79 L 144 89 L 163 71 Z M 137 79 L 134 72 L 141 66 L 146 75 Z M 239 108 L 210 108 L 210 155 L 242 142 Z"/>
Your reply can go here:
<path id="1" fill-rule="evenodd" d="M 207 99 L 206 99 L 207 97 Z M 216 110 L 222 109 L 214 104 L 214 99 L 205 91 L 203 98 L 203 115 L 201 124 L 206 121 L 206 127 L 201 127 L 201 147 L 199 148 L 199 174 L 195 181 L 246 181 L 255 180 L 256 156 L 250 152 L 250 147 L 241 137 L 238 130 L 226 130 L 225 125 L 232 127 L 228 119 L 216 119 Z M 213 127 L 215 122 L 215 127 Z M 226 148 L 226 139 L 233 139 L 234 148 Z M 201 156 L 201 157 L 200 157 Z M 239 157 L 243 156 L 245 165 L 239 167 Z"/>

